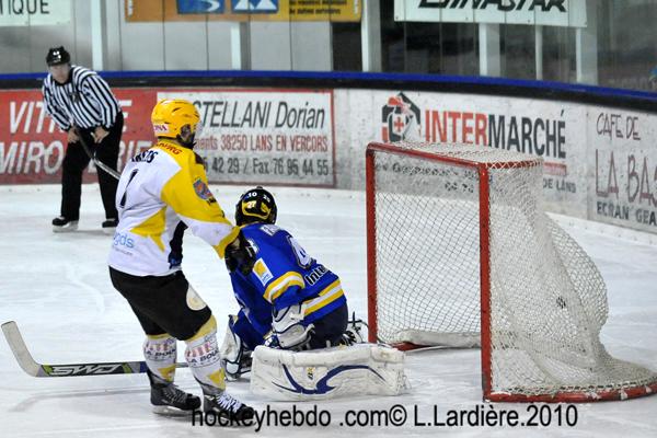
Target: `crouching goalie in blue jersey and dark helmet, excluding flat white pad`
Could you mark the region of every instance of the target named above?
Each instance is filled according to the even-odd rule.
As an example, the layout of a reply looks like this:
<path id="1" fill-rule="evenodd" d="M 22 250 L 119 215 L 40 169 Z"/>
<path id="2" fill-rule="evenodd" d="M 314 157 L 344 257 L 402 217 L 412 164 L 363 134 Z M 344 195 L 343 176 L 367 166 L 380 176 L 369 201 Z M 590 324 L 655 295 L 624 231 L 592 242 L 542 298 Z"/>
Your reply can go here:
<path id="1" fill-rule="evenodd" d="M 233 379 L 250 370 L 250 354 L 258 345 L 299 351 L 349 339 L 339 278 L 276 226 L 276 215 L 274 196 L 261 186 L 245 192 L 235 206 L 235 223 L 255 256 L 249 266 L 226 257 L 241 308 L 229 318 L 221 348 Z"/>

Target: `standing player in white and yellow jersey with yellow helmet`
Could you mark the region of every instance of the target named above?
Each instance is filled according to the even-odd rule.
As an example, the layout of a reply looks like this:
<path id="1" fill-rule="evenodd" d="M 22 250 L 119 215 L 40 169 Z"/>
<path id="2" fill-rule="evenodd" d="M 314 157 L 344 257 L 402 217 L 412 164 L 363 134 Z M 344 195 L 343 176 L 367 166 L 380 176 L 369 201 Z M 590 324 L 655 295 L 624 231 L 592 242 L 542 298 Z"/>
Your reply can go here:
<path id="1" fill-rule="evenodd" d="M 250 256 L 240 229 L 226 219 L 194 151 L 199 115 L 183 100 L 163 100 L 152 112 L 158 143 L 127 163 L 116 194 L 118 227 L 110 253 L 114 287 L 137 315 L 147 339 L 143 354 L 153 411 L 193 411 L 200 399 L 174 385 L 176 339 L 204 394 L 204 410 L 231 420 L 253 410 L 226 392 L 217 346 L 217 323 L 181 269 L 185 229 L 209 243 L 219 257 L 243 266 Z"/>

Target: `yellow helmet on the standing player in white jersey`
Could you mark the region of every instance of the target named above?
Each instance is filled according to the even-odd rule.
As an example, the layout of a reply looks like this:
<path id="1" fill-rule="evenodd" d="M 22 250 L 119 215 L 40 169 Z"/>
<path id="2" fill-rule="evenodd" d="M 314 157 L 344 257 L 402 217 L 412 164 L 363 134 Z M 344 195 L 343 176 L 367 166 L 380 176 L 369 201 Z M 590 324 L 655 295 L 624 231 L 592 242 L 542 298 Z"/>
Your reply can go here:
<path id="1" fill-rule="evenodd" d="M 155 137 L 180 139 L 185 125 L 191 134 L 200 132 L 200 115 L 196 106 L 182 99 L 163 99 L 155 104 L 151 114 Z"/>

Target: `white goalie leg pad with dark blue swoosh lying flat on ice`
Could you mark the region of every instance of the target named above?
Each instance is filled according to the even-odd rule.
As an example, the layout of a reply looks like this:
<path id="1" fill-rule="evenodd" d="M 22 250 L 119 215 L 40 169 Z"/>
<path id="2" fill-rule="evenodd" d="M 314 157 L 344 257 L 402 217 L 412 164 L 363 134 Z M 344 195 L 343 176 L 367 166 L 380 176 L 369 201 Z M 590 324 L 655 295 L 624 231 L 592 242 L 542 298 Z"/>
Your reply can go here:
<path id="1" fill-rule="evenodd" d="M 258 346 L 253 353 L 251 391 L 277 401 L 347 395 L 399 395 L 407 388 L 404 354 L 377 344 L 310 351 Z"/>

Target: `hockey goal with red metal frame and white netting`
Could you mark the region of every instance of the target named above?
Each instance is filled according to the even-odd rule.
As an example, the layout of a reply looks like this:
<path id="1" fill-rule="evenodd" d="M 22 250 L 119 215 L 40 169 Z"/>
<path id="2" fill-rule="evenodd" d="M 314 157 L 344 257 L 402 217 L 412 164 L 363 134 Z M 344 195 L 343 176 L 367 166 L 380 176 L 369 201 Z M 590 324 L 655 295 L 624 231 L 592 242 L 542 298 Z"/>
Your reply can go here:
<path id="1" fill-rule="evenodd" d="M 481 346 L 484 399 L 657 391 L 599 341 L 606 286 L 542 208 L 540 158 L 473 146 L 367 148 L 370 342 Z"/>

